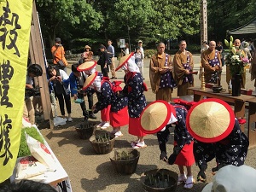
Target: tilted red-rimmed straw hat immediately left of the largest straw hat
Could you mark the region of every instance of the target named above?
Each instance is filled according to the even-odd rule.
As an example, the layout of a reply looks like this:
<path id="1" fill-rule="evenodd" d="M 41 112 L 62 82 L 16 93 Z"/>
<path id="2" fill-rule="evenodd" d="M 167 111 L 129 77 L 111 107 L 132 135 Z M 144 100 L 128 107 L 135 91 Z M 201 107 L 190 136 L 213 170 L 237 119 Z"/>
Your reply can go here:
<path id="1" fill-rule="evenodd" d="M 176 122 L 175 116 L 176 110 L 168 102 L 162 100 L 151 102 L 144 108 L 140 117 L 141 129 L 144 133 L 154 134 L 162 130 L 171 118 Z"/>

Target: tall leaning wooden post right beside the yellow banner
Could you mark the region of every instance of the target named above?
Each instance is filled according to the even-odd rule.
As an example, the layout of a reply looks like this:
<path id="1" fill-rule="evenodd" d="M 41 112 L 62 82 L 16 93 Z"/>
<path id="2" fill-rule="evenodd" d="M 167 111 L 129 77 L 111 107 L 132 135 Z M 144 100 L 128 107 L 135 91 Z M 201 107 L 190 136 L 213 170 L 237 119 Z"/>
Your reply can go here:
<path id="1" fill-rule="evenodd" d="M 42 76 L 35 78 L 35 84 L 41 87 L 41 101 L 42 107 L 44 110 L 44 120 L 49 119 L 50 128 L 54 127 L 53 124 L 53 113 L 51 109 L 51 103 L 49 98 L 49 87 L 48 87 L 48 79 L 46 75 L 46 63 L 44 61 L 44 51 L 43 44 L 40 35 L 40 27 L 38 21 L 38 13 L 36 8 L 36 2 L 33 1 L 32 7 L 32 24 L 31 24 L 31 32 L 30 32 L 30 41 L 29 41 L 29 54 L 32 61 L 32 64 L 37 63 L 43 69 Z"/>

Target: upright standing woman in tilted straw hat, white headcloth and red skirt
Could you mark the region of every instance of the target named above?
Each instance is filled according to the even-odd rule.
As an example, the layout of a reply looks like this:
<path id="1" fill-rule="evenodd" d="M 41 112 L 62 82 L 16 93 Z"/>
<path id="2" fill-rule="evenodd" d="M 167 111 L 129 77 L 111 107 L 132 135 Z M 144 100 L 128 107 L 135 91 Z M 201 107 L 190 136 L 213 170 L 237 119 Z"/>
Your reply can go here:
<path id="1" fill-rule="evenodd" d="M 121 57 L 116 71 L 120 68 L 125 71 L 125 87 L 122 94 L 128 97 L 129 133 L 137 136 L 137 141 L 131 143 L 131 147 L 145 148 L 147 145 L 143 137 L 146 134 L 140 129 L 139 117 L 146 107 L 146 97 L 143 92 L 147 90 L 147 87 L 143 83 L 143 77 L 135 63 L 133 52 Z"/>

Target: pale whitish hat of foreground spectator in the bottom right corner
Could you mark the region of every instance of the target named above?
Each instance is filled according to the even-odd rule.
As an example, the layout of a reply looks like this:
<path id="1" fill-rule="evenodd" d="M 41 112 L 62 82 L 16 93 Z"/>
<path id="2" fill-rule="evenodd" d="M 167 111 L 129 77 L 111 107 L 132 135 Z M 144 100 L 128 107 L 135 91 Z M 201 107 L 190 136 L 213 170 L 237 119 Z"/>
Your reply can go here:
<path id="1" fill-rule="evenodd" d="M 201 192 L 254 192 L 256 170 L 250 166 L 224 166 Z"/>

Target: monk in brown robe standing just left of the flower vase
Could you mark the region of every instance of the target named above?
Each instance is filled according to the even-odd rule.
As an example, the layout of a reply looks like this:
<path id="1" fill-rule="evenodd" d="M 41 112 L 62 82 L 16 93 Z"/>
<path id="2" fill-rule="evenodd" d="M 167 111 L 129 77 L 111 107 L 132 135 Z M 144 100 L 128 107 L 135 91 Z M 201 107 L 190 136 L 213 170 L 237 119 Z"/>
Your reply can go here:
<path id="1" fill-rule="evenodd" d="M 220 85 L 222 62 L 216 42 L 210 41 L 209 48 L 201 54 L 201 65 L 204 67 L 206 83 Z"/>

